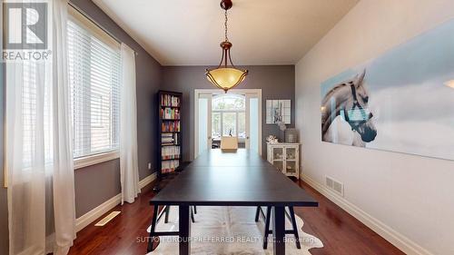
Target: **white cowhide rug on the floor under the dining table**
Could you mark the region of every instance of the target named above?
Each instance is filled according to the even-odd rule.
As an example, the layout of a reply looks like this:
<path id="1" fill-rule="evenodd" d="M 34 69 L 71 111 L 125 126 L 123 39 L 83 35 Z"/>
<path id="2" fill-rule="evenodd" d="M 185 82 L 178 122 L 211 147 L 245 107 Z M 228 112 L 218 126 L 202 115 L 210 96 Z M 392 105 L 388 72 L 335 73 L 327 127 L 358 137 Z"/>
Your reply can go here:
<path id="1" fill-rule="evenodd" d="M 310 249 L 323 247 L 321 240 L 301 230 L 303 221 L 298 215 L 295 216 L 301 250 L 296 248 L 293 235 L 288 234 L 285 254 L 309 255 Z M 269 237 L 268 249 L 263 250 L 264 219 L 261 216 L 261 221 L 255 222 L 254 218 L 255 207 L 198 206 L 195 223 L 191 224 L 191 254 L 272 254 L 272 234 Z M 291 229 L 291 221 L 288 219 L 286 219 L 286 229 Z M 162 218 L 156 230 L 178 230 L 178 207 L 171 207 L 169 222 L 164 223 Z M 150 232 L 150 227 L 147 231 Z M 178 254 L 178 237 L 160 237 L 158 247 L 148 254 Z"/>

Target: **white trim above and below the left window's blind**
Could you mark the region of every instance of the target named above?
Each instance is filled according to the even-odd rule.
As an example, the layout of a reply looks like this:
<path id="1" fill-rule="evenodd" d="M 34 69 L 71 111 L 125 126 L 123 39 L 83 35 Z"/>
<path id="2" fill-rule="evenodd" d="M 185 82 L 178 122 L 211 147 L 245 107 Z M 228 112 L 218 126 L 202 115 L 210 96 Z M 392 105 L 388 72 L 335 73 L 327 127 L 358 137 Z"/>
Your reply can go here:
<path id="1" fill-rule="evenodd" d="M 68 4 L 68 22 L 71 21 L 76 25 L 80 25 L 90 33 L 94 34 L 96 38 L 104 44 L 112 47 L 113 49 L 120 50 L 121 43 L 114 39 L 110 34 L 106 33 L 97 23 L 95 23 L 88 15 L 84 14 L 79 8 L 74 5 Z M 69 80 L 68 80 L 69 82 Z M 121 118 L 121 117 L 120 117 Z M 120 122 L 120 120 L 118 120 Z M 119 132 L 118 132 L 119 134 Z M 118 140 L 120 140 L 118 138 Z M 112 151 L 96 152 L 94 154 L 74 158 L 74 170 L 84 167 L 92 166 L 102 162 L 110 162 L 120 158 L 120 146 L 117 146 Z"/>

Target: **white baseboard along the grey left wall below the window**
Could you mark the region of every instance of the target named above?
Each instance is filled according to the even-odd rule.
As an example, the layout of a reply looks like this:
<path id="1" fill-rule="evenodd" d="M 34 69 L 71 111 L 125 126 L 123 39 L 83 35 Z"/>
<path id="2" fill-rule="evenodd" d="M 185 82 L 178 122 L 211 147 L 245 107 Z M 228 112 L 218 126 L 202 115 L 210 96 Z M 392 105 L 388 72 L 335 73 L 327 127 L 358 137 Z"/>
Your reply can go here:
<path id="1" fill-rule="evenodd" d="M 142 181 L 139 181 L 139 188 L 142 190 L 143 187 L 150 184 L 152 181 L 156 179 L 156 172 L 148 175 L 147 177 L 143 178 Z M 108 201 L 104 201 L 104 203 L 95 207 L 92 211 L 88 211 L 81 217 L 75 220 L 75 230 L 78 232 L 83 230 L 86 226 L 90 225 L 90 223 L 96 221 L 99 217 L 103 216 L 104 213 L 107 211 L 111 211 L 115 206 L 120 204 L 122 201 L 122 194 L 118 194 L 114 196 L 112 199 Z"/>

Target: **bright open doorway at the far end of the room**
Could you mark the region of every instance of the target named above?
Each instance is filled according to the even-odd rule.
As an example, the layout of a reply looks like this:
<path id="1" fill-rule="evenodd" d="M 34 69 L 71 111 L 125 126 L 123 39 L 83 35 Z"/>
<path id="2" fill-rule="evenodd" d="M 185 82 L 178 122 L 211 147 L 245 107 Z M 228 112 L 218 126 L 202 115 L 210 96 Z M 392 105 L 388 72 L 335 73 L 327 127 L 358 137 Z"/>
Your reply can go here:
<path id="1" fill-rule="evenodd" d="M 194 91 L 194 157 L 219 148 L 222 136 L 262 155 L 262 90 Z"/>

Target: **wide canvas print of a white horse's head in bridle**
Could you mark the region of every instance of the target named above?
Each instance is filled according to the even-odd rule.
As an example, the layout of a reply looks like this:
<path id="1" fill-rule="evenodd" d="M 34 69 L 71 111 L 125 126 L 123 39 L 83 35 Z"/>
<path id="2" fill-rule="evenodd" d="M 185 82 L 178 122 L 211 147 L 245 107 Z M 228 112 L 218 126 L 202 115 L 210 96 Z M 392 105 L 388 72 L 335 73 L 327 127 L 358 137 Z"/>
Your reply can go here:
<path id="1" fill-rule="evenodd" d="M 454 160 L 454 21 L 321 83 L 321 139 Z"/>

